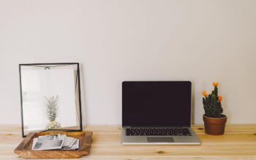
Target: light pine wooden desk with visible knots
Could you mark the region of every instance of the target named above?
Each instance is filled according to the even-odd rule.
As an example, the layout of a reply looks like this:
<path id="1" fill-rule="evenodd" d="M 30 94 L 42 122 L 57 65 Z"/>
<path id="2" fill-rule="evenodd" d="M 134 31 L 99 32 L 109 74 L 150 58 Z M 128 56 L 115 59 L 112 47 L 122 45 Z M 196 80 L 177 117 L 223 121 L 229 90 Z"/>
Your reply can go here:
<path id="1" fill-rule="evenodd" d="M 192 127 L 202 145 L 121 145 L 120 126 L 89 126 L 94 132 L 90 156 L 83 159 L 256 159 L 256 124 L 226 127 L 225 135 L 206 135 Z M 20 127 L 0 126 L 0 159 L 18 159 L 13 150 L 22 141 Z"/>

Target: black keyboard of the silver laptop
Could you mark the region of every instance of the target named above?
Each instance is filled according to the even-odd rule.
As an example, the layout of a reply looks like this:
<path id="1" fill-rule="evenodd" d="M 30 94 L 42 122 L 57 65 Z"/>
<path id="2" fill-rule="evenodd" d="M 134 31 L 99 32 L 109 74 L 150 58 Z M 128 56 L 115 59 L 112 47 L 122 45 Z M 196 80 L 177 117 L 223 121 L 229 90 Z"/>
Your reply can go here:
<path id="1" fill-rule="evenodd" d="M 190 136 L 192 135 L 187 128 L 127 128 L 127 135 L 163 135 L 163 136 Z"/>

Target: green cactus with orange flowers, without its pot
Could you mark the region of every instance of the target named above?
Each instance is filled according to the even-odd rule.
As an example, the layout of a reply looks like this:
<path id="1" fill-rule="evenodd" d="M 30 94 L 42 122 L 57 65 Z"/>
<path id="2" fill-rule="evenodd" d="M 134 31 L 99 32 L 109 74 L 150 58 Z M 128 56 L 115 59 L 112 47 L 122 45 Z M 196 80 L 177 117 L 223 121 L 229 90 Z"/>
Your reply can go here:
<path id="1" fill-rule="evenodd" d="M 203 108 L 205 110 L 205 116 L 212 118 L 222 118 L 225 115 L 222 114 L 222 96 L 218 95 L 218 85 L 219 83 L 213 82 L 214 90 L 211 91 L 211 94 L 207 94 L 206 91 L 203 91 Z"/>

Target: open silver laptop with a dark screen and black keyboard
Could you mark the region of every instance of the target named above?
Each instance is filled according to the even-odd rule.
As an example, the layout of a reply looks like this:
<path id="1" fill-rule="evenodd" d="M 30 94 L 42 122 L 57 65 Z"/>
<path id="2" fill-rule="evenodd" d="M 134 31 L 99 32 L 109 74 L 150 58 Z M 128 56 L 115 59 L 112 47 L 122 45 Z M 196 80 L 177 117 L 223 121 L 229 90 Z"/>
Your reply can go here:
<path id="1" fill-rule="evenodd" d="M 190 81 L 123 81 L 123 145 L 200 145 L 190 126 Z"/>

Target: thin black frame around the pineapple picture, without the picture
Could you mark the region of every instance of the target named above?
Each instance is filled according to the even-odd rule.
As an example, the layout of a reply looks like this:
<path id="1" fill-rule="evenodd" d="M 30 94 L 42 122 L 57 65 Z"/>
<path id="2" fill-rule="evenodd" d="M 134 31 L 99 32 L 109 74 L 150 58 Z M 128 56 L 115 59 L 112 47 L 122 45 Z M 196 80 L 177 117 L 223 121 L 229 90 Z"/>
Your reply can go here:
<path id="1" fill-rule="evenodd" d="M 22 81 L 21 81 L 21 67 L 23 65 L 77 65 L 77 77 L 75 83 L 78 85 L 78 103 L 79 103 L 79 116 L 80 116 L 80 129 L 54 129 L 54 130 L 63 130 L 63 131 L 69 131 L 69 132 L 79 132 L 83 131 L 83 122 L 82 122 L 82 105 L 81 105 L 81 94 L 80 94 L 80 64 L 79 63 L 22 63 L 19 64 L 19 76 L 20 76 L 20 107 L 21 107 L 21 129 L 22 129 L 22 137 L 26 137 L 24 133 L 24 123 L 23 123 L 23 95 L 22 95 Z M 48 129 L 43 130 L 41 132 L 48 131 Z"/>

